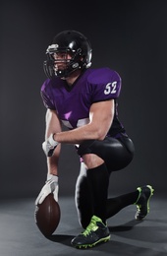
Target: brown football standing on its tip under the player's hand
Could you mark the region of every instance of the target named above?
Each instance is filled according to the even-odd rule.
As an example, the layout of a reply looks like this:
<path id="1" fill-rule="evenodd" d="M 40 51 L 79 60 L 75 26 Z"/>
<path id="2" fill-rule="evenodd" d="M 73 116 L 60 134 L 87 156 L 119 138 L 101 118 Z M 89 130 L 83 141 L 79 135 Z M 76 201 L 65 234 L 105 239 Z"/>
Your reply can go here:
<path id="1" fill-rule="evenodd" d="M 60 216 L 59 204 L 54 200 L 52 193 L 37 205 L 34 211 L 35 224 L 44 236 L 50 236 L 56 230 Z"/>

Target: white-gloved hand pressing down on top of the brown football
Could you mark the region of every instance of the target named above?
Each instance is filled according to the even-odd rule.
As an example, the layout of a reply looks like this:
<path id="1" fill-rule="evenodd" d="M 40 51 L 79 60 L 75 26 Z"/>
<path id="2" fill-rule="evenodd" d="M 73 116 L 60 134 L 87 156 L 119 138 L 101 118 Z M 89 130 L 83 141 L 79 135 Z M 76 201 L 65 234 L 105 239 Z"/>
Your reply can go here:
<path id="1" fill-rule="evenodd" d="M 58 176 L 49 174 L 49 177 L 47 178 L 45 185 L 40 190 L 40 193 L 38 194 L 35 205 L 40 205 L 43 200 L 50 194 L 53 193 L 54 200 L 58 202 L 58 192 L 59 192 L 59 184 L 58 184 Z"/>

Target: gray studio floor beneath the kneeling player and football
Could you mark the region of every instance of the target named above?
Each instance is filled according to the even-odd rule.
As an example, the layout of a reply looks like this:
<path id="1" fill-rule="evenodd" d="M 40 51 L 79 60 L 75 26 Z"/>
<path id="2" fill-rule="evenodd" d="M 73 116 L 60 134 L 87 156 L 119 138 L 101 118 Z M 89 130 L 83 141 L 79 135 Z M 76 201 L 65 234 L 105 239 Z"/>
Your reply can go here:
<path id="1" fill-rule="evenodd" d="M 134 220 L 135 206 L 129 206 L 108 220 L 111 240 L 94 248 L 79 250 L 71 239 L 82 231 L 74 199 L 62 197 L 61 222 L 52 239 L 46 239 L 33 219 L 34 199 L 4 200 L 0 206 L 0 256 L 54 255 L 167 255 L 166 199 L 152 197 L 147 218 Z"/>

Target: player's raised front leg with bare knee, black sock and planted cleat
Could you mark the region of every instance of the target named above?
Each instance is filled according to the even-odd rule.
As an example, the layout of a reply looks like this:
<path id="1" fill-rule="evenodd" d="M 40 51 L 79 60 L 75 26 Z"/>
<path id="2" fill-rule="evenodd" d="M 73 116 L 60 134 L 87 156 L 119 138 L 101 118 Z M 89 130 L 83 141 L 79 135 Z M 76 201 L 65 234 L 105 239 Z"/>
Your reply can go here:
<path id="1" fill-rule="evenodd" d="M 82 217 L 81 223 L 85 230 L 72 240 L 72 244 L 79 248 L 85 248 L 110 239 L 110 232 L 106 226 L 109 174 L 113 169 L 118 170 L 126 166 L 132 160 L 132 155 L 128 152 L 127 148 L 115 138 L 110 138 L 109 140 L 107 138 L 104 141 L 86 141 L 80 147 L 78 153 L 83 157 L 83 161 L 87 167 L 84 178 L 86 177 L 86 186 L 89 193 L 87 200 L 88 205 L 89 203 L 91 204 L 90 209 L 92 213 L 88 210 L 88 215 L 90 213 L 90 216 L 88 216 L 88 224 L 86 223 L 88 221 L 88 219 L 86 219 L 87 213 L 85 213 L 84 210 L 82 212 L 83 208 L 81 209 L 81 205 L 83 204 L 83 200 L 87 197 L 87 194 L 82 198 L 83 177 L 82 179 L 80 177 L 80 179 L 78 179 L 77 207 L 79 212 L 81 211 L 79 216 Z M 109 169 L 106 167 L 105 162 L 107 162 Z M 85 189 L 85 187 L 83 188 Z"/>

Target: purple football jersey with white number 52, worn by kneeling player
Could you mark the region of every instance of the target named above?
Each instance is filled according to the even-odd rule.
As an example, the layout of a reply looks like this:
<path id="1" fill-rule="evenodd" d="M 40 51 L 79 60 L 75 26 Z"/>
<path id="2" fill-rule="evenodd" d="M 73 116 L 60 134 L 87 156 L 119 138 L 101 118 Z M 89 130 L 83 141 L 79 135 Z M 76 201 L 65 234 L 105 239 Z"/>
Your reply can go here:
<path id="1" fill-rule="evenodd" d="M 60 120 L 69 129 L 74 129 L 89 121 L 89 108 L 94 102 L 115 99 L 120 96 L 121 78 L 109 68 L 87 69 L 73 86 L 65 80 L 55 77 L 47 79 L 41 87 L 43 103 L 47 108 L 55 109 Z M 117 103 L 110 134 L 123 126 L 118 121 Z M 116 133 L 116 132 L 114 132 Z"/>

